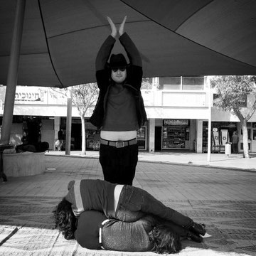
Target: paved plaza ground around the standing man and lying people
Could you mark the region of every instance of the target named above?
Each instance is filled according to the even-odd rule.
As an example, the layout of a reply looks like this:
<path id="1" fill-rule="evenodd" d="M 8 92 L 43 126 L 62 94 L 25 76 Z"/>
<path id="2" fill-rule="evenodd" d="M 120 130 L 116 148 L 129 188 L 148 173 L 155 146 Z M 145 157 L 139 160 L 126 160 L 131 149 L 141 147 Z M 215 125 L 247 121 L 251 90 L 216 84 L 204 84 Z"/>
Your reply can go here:
<path id="1" fill-rule="evenodd" d="M 68 182 L 103 178 L 97 152 L 72 154 L 49 152 L 44 174 L 1 181 L 0 255 L 155 255 L 87 250 L 54 229 L 50 213 L 67 193 Z M 139 154 L 134 179 L 134 186 L 206 223 L 209 237 L 201 244 L 183 241 L 178 255 L 256 255 L 256 158 L 239 167 L 245 161 L 241 156 L 213 156 L 214 166 L 206 155 L 200 154 L 199 162 L 198 154 L 178 154 Z"/>

